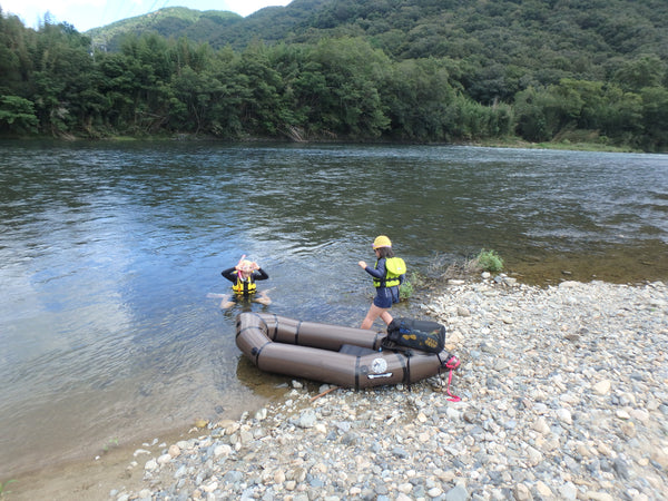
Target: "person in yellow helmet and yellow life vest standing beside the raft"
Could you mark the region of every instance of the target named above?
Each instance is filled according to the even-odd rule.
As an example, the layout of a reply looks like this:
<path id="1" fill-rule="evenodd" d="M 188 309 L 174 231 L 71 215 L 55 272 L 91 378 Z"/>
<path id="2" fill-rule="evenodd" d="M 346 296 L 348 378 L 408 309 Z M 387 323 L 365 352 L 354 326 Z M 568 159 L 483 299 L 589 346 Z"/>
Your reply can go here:
<path id="1" fill-rule="evenodd" d="M 385 324 L 392 322 L 390 308 L 394 303 L 399 303 L 399 286 L 403 283 L 405 274 L 395 278 L 390 278 L 385 263 L 387 258 L 394 257 L 392 252 L 392 242 L 385 235 L 380 235 L 373 242 L 373 252 L 376 255 L 375 266 L 367 266 L 364 261 L 357 264 L 362 269 L 373 277 L 373 283 L 376 288 L 376 296 L 366 313 L 362 328 L 371 328 L 375 320 L 380 316 Z"/>

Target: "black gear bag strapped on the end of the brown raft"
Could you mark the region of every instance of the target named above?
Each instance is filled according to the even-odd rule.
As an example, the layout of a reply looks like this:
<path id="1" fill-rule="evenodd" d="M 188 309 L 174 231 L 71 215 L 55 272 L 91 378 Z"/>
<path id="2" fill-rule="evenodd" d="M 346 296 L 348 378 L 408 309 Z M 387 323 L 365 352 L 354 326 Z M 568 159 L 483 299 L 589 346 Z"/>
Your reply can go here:
<path id="1" fill-rule="evenodd" d="M 387 325 L 382 346 L 389 350 L 407 347 L 428 353 L 441 353 L 445 347 L 445 327 L 436 322 L 394 318 Z"/>

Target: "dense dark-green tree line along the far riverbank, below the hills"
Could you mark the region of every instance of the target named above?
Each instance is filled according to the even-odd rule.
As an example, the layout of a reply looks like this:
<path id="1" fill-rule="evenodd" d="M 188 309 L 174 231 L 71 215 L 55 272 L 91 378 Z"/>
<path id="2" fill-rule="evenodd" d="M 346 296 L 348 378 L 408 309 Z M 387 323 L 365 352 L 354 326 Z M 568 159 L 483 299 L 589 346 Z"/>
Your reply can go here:
<path id="1" fill-rule="evenodd" d="M 352 35 L 213 49 L 141 33 L 105 52 L 68 23 L 46 19 L 33 30 L 0 16 L 6 137 L 668 145 L 668 75 L 656 55 L 627 60 L 605 80 L 532 81 L 490 95 L 489 78 L 477 87 L 479 69 L 452 57 L 396 59 Z"/>

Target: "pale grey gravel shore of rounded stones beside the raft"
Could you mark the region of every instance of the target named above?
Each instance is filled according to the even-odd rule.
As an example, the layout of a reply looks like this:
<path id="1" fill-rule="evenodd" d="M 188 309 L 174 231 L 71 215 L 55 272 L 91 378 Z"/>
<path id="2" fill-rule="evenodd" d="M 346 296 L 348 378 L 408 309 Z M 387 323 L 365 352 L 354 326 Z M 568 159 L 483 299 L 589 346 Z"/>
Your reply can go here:
<path id="1" fill-rule="evenodd" d="M 109 499 L 661 500 L 668 288 L 507 277 L 422 306 L 461 360 L 406 387 L 294 381 L 283 401 L 138 449 Z M 311 387 L 311 390 L 308 390 Z"/>

